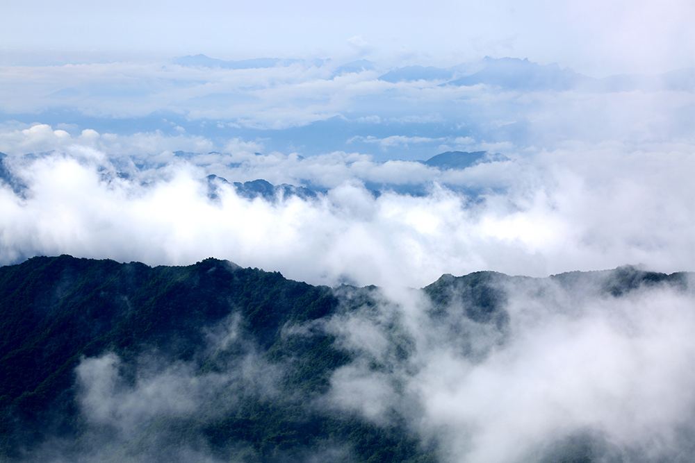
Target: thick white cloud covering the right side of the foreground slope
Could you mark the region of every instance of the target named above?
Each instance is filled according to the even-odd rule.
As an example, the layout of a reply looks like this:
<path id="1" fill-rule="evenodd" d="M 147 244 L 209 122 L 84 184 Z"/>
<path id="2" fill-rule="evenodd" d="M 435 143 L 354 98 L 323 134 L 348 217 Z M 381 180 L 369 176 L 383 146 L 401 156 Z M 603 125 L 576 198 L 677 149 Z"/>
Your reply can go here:
<path id="1" fill-rule="evenodd" d="M 377 423 L 395 410 L 436 439 L 445 462 L 535 460 L 587 433 L 637 461 L 689 453 L 677 430 L 692 429 L 695 406 L 692 294 L 654 287 L 612 298 L 590 277 L 499 288 L 501 332 L 461 317 L 458 303 L 431 317 L 429 303 L 402 291 L 335 317 L 329 326 L 354 362 L 332 377 L 331 403 Z M 393 356 L 395 338 L 409 339 L 406 360 Z"/>

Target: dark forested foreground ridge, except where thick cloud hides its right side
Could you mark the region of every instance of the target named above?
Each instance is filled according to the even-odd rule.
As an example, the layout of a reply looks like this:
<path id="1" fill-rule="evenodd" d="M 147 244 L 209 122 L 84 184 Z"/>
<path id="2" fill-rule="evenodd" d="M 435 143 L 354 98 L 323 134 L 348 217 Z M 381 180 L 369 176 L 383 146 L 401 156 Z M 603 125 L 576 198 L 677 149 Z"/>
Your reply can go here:
<path id="1" fill-rule="evenodd" d="M 687 292 L 689 278 L 477 272 L 442 276 L 412 300 L 438 342 L 475 364 L 508 342 L 518 292 L 613 299 Z M 61 255 L 1 267 L 0 314 L 2 461 L 446 460 L 399 399 L 402 378 L 423 366 L 400 304 L 377 287 L 316 287 L 213 258 L 148 267 Z M 350 342 L 356 321 L 382 330 L 381 354 L 366 337 Z M 378 413 L 354 406 L 369 394 L 341 389 L 359 365 L 391 378 L 395 398 Z M 623 461 L 607 446 L 580 432 L 536 461 Z"/>

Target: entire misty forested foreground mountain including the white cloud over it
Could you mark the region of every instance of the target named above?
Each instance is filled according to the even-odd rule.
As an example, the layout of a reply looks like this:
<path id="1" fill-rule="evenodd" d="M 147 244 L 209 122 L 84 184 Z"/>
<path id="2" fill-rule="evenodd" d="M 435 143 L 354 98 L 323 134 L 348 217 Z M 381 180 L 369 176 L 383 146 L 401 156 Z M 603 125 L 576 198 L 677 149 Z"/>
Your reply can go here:
<path id="1" fill-rule="evenodd" d="M 689 273 L 635 267 L 394 293 L 213 258 L 31 258 L 0 268 L 0 449 L 8 462 L 685 462 L 693 301 Z"/>

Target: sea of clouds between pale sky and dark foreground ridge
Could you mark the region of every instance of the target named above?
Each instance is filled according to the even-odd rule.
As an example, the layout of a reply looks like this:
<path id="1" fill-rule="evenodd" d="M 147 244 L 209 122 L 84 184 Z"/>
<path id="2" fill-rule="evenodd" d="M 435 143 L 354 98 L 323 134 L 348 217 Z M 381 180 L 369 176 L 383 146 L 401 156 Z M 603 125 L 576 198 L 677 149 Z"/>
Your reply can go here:
<path id="1" fill-rule="evenodd" d="M 694 269 L 692 69 L 523 90 L 393 83 L 368 61 L 177 62 L 0 68 L 0 262 L 214 256 L 310 283 L 411 287 L 484 269 Z M 505 71 L 450 69 L 490 62 Z M 28 122 L 56 117 L 70 123 Z M 500 155 L 414 162 L 451 150 Z M 319 194 L 250 200 L 211 174 Z"/>

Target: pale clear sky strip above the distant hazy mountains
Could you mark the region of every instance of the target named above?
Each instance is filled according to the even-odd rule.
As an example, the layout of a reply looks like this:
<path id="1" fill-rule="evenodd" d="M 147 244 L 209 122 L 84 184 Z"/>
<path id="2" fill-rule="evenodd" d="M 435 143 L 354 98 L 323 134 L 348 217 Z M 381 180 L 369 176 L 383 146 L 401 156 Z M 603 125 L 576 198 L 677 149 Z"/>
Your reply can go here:
<path id="1" fill-rule="evenodd" d="M 10 0 L 0 43 L 4 60 L 15 61 L 352 54 L 455 65 L 490 55 L 558 62 L 603 77 L 692 67 L 694 14 L 687 0 Z"/>

